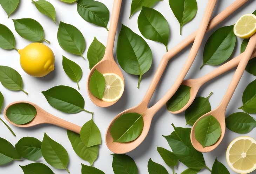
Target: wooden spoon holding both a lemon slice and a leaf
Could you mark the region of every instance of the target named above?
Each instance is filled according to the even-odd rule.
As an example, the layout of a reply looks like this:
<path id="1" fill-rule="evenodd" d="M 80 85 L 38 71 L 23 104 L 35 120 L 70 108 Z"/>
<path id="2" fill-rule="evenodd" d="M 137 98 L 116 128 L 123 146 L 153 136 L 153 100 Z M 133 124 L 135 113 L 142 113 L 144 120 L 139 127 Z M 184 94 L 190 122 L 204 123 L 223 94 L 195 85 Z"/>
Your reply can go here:
<path id="1" fill-rule="evenodd" d="M 87 92 L 88 92 L 89 98 L 90 98 L 90 100 L 92 100 L 92 102 L 95 105 L 100 106 L 100 107 L 111 106 L 111 105 L 115 104 L 118 100 L 113 101 L 113 102 L 106 102 L 106 101 L 98 99 L 90 92 L 89 82 L 90 82 L 90 78 L 91 78 L 94 70 L 97 69 L 102 74 L 115 73 L 115 74 L 119 75 L 124 82 L 122 71 L 117 66 L 117 64 L 114 60 L 114 56 L 113 56 L 113 48 L 114 48 L 115 35 L 116 35 L 116 29 L 117 29 L 117 23 L 118 23 L 118 19 L 119 19 L 121 4 L 122 4 L 122 0 L 114 0 L 105 55 L 103 56 L 102 60 L 100 62 L 98 62 L 90 70 L 90 73 L 89 73 L 89 76 L 87 79 Z"/>

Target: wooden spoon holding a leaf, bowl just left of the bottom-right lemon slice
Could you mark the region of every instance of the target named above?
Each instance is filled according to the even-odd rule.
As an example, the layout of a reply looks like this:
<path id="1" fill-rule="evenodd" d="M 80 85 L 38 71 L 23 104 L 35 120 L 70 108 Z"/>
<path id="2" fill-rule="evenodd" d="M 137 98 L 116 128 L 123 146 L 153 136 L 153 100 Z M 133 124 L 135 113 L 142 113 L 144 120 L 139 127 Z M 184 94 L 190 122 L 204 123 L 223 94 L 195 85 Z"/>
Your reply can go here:
<path id="1" fill-rule="evenodd" d="M 203 116 L 201 116 L 198 120 L 202 119 L 205 116 L 208 115 L 213 115 L 218 122 L 221 125 L 221 136 L 218 139 L 218 141 L 211 145 L 211 146 L 207 146 L 207 147 L 203 147 L 195 138 L 195 126 L 198 122 L 198 120 L 194 123 L 193 128 L 191 130 L 191 134 L 190 134 L 190 139 L 191 139 L 191 143 L 192 145 L 195 147 L 195 149 L 197 151 L 200 152 L 209 152 L 214 150 L 222 141 L 224 134 L 225 134 L 225 128 L 226 128 L 226 124 L 225 124 L 225 111 L 228 107 L 229 101 L 231 99 L 231 97 L 233 96 L 236 87 L 243 75 L 243 72 L 245 70 L 245 67 L 247 66 L 247 63 L 255 49 L 256 46 L 256 34 L 254 36 L 252 36 L 249 40 L 249 43 L 245 49 L 245 52 L 242 54 L 243 58 L 240 61 L 240 63 L 238 64 L 238 67 L 236 68 L 235 74 L 230 82 L 230 85 L 227 89 L 227 92 L 225 93 L 220 105 L 214 109 L 213 111 L 208 112 L 207 114 L 204 114 Z"/>

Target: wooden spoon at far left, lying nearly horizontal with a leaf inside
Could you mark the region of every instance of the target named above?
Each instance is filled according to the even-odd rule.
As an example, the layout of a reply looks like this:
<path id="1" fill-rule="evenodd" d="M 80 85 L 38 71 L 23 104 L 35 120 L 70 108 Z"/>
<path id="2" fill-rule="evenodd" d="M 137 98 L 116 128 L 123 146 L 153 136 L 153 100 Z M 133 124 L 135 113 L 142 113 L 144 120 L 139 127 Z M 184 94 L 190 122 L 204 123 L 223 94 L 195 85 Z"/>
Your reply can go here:
<path id="1" fill-rule="evenodd" d="M 11 106 L 11 105 L 14 105 L 14 104 L 17 104 L 17 103 L 28 103 L 28 104 L 31 104 L 33 105 L 35 108 L 36 108 L 36 112 L 37 112 L 37 115 L 35 116 L 35 118 L 31 121 L 31 122 L 28 122 L 26 124 L 22 124 L 22 125 L 19 125 L 19 124 L 15 124 L 13 123 L 11 120 L 9 120 L 6 116 L 6 110 Z M 41 107 L 39 107 L 38 105 L 34 104 L 34 103 L 31 103 L 29 101 L 15 101 L 11 104 L 9 104 L 8 106 L 6 106 L 5 110 L 4 110 L 4 116 L 5 116 L 5 119 L 10 122 L 11 124 L 13 124 L 14 126 L 17 126 L 17 127 L 21 127 L 21 128 L 27 128 L 27 127 L 32 127 L 32 126 L 36 126 L 38 124 L 44 124 L 44 123 L 48 123 L 48 124 L 53 124 L 53 125 L 56 125 L 56 126 L 59 126 L 59 127 L 62 127 L 64 129 L 68 129 L 68 130 L 71 130 L 77 134 L 80 134 L 80 130 L 81 130 L 81 127 L 76 125 L 76 124 L 73 124 L 73 123 L 70 123 L 68 121 L 65 121 L 63 119 L 60 119 L 56 116 L 53 116 L 52 114 L 46 112 L 45 110 L 43 110 Z"/>

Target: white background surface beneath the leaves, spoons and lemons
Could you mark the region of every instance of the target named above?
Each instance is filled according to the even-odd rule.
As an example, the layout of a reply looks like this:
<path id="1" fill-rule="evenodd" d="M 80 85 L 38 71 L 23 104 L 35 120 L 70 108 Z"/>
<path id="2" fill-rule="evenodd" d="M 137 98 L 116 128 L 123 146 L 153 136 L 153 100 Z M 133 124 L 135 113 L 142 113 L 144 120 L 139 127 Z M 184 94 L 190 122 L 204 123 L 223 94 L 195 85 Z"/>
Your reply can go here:
<path id="1" fill-rule="evenodd" d="M 19 92 L 9 91 L 5 89 L 2 85 L 0 85 L 0 91 L 3 93 L 5 97 L 4 106 L 8 105 L 13 101 L 28 100 L 35 104 L 38 104 L 43 109 L 52 113 L 53 115 L 56 115 L 62 119 L 65 119 L 67 121 L 70 121 L 82 126 L 83 123 L 85 123 L 90 119 L 91 117 L 90 114 L 85 112 L 81 112 L 78 114 L 66 114 L 66 113 L 60 112 L 55 108 L 51 107 L 47 103 L 43 94 L 41 93 L 41 91 L 48 90 L 49 88 L 52 88 L 53 86 L 56 86 L 56 85 L 68 85 L 76 89 L 77 88 L 76 83 L 72 82 L 63 71 L 62 55 L 65 55 L 67 58 L 75 61 L 81 66 L 83 70 L 83 77 L 79 83 L 81 87 L 81 90 L 79 92 L 82 94 L 82 96 L 85 99 L 85 103 L 86 103 L 85 109 L 95 112 L 94 121 L 99 127 L 101 131 L 101 136 L 102 136 L 102 145 L 100 146 L 100 149 L 99 149 L 99 157 L 95 161 L 94 166 L 101 169 L 106 174 L 112 174 L 113 173 L 113 169 L 112 169 L 113 157 L 112 155 L 110 155 L 112 152 L 108 150 L 105 144 L 105 131 L 108 127 L 109 122 L 114 118 L 115 115 L 117 115 L 124 109 L 133 107 L 136 104 L 140 103 L 144 93 L 148 89 L 148 86 L 151 82 L 151 78 L 153 77 L 154 72 L 157 66 L 159 65 L 159 62 L 163 54 L 166 53 L 165 47 L 163 44 L 145 39 L 153 52 L 153 64 L 150 70 L 143 76 L 140 89 L 137 89 L 137 81 L 138 81 L 137 77 L 134 75 L 129 75 L 123 71 L 126 86 L 125 86 L 125 90 L 122 98 L 115 105 L 111 107 L 108 107 L 108 108 L 97 107 L 90 101 L 86 91 L 86 80 L 87 80 L 87 75 L 89 73 L 88 61 L 83 60 L 80 56 L 72 55 L 62 50 L 58 44 L 57 30 L 58 30 L 58 25 L 60 21 L 63 21 L 65 23 L 70 23 L 75 27 L 77 27 L 83 33 L 83 36 L 85 37 L 85 40 L 86 40 L 86 44 L 87 44 L 86 51 L 83 54 L 85 57 L 87 55 L 88 47 L 90 43 L 92 43 L 94 36 L 96 36 L 98 40 L 100 40 L 104 45 L 106 45 L 108 32 L 105 28 L 97 27 L 96 25 L 93 25 L 91 23 L 84 21 L 77 13 L 75 3 L 70 5 L 67 3 L 63 3 L 59 0 L 49 0 L 49 1 L 53 4 L 53 6 L 56 9 L 56 24 L 53 23 L 53 21 L 51 21 L 47 16 L 41 14 L 35 8 L 34 4 L 29 0 L 21 0 L 18 9 L 16 10 L 15 13 L 13 13 L 10 16 L 9 19 L 7 19 L 7 15 L 4 12 L 4 10 L 0 8 L 0 16 L 1 16 L 0 23 L 6 25 L 9 29 L 12 30 L 17 43 L 16 47 L 18 49 L 22 49 L 23 47 L 25 47 L 27 44 L 31 42 L 21 38 L 18 35 L 18 33 L 16 33 L 11 19 L 12 18 L 14 19 L 34 18 L 43 26 L 45 30 L 45 38 L 51 41 L 50 45 L 48 45 L 47 43 L 44 43 L 44 44 L 52 48 L 55 54 L 55 59 L 56 59 L 55 70 L 52 73 L 50 73 L 49 75 L 43 78 L 34 78 L 27 75 L 21 69 L 20 63 L 19 63 L 19 54 L 15 50 L 7 51 L 7 50 L 0 49 L 0 62 L 1 62 L 0 65 L 9 66 L 16 69 L 23 78 L 24 89 L 29 93 L 29 95 L 26 96 L 26 94 L 21 91 Z M 99 0 L 99 1 L 105 3 L 111 15 L 113 1 L 110 1 L 110 0 Z M 131 1 L 132 0 L 123 0 L 121 15 L 120 15 L 120 23 L 117 29 L 117 33 L 119 33 L 121 23 L 123 23 L 124 25 L 132 29 L 134 32 L 141 35 L 137 27 L 137 17 L 139 15 L 139 12 L 137 12 L 130 20 L 128 19 L 130 14 Z M 218 13 L 220 13 L 222 10 L 227 8 L 234 1 L 235 0 L 218 0 L 213 16 L 216 16 Z M 190 23 L 186 24 L 183 27 L 182 36 L 179 35 L 180 26 L 169 7 L 168 0 L 159 2 L 154 7 L 154 9 L 158 10 L 163 14 L 163 16 L 167 19 L 169 23 L 169 26 L 170 26 L 170 39 L 168 44 L 169 49 L 174 47 L 181 40 L 186 38 L 191 32 L 195 31 L 198 28 L 202 15 L 204 13 L 204 9 L 206 7 L 207 1 L 197 0 L 197 3 L 198 3 L 197 15 L 193 21 L 191 21 Z M 234 12 L 234 14 L 230 15 L 220 25 L 218 25 L 217 28 L 234 24 L 240 16 L 246 13 L 254 12 L 255 8 L 256 8 L 256 1 L 249 0 L 249 2 L 247 2 L 240 9 Z M 216 30 L 217 28 L 215 28 L 214 30 Z M 205 67 L 203 67 L 202 70 L 199 70 L 200 66 L 202 65 L 203 47 L 204 47 L 204 44 L 206 43 L 207 38 L 210 36 L 210 33 L 206 34 L 206 37 L 203 40 L 202 46 L 198 52 L 195 62 L 191 67 L 186 79 L 201 77 L 216 68 L 216 67 L 206 65 Z M 242 39 L 237 38 L 236 49 L 234 51 L 233 56 L 236 56 L 240 53 L 241 41 Z M 116 45 L 114 48 L 114 54 L 116 52 L 115 49 L 116 49 Z M 159 83 L 159 86 L 157 87 L 155 94 L 150 101 L 150 105 L 153 105 L 156 101 L 158 101 L 173 84 L 175 78 L 177 77 L 184 62 L 187 59 L 189 50 L 190 50 L 190 47 L 186 48 L 185 50 L 182 51 L 182 53 L 178 54 L 177 56 L 174 57 L 174 59 L 170 61 Z M 230 83 L 233 73 L 234 73 L 234 70 L 228 73 L 225 73 L 225 75 L 217 77 L 216 79 L 205 84 L 200 89 L 198 96 L 206 97 L 211 91 L 213 91 L 214 94 L 213 96 L 210 97 L 210 103 L 212 108 L 217 107 L 217 105 L 220 103 L 223 97 L 223 94 L 225 93 L 225 90 L 227 89 Z M 254 79 L 255 79 L 254 76 L 250 75 L 247 72 L 244 73 L 242 80 L 238 85 L 237 90 L 235 91 L 235 94 L 228 106 L 226 115 L 229 115 L 234 112 L 239 112 L 239 111 L 242 112 L 240 109 L 237 109 L 242 105 L 242 93 L 245 87 Z M 1 118 L 3 118 L 2 114 L 0 116 Z M 253 116 L 255 118 L 255 115 Z M 135 160 L 139 168 L 140 174 L 148 173 L 147 163 L 149 158 L 151 158 L 153 161 L 157 163 L 162 164 L 164 167 L 166 167 L 169 173 L 172 173 L 171 169 L 164 163 L 164 161 L 161 159 L 160 155 L 156 151 L 157 146 L 161 146 L 170 150 L 170 147 L 167 141 L 165 140 L 165 138 L 162 137 L 162 135 L 169 135 L 173 131 L 173 128 L 171 127 L 171 123 L 174 123 L 176 127 L 185 127 L 186 121 L 184 119 L 184 113 L 173 115 L 173 114 L 170 114 L 166 110 L 166 108 L 163 107 L 159 112 L 156 113 L 152 121 L 149 134 L 147 138 L 144 140 L 144 142 L 139 147 L 137 147 L 137 149 L 128 153 L 128 155 Z M 70 162 L 68 165 L 68 169 L 71 174 L 81 173 L 81 164 L 80 164 L 81 162 L 83 164 L 89 165 L 87 161 L 83 161 L 75 154 L 68 140 L 65 129 L 52 126 L 52 125 L 40 125 L 40 126 L 26 128 L 26 129 L 14 127 L 12 125 L 10 126 L 16 133 L 17 137 L 14 137 L 2 123 L 0 123 L 0 136 L 7 139 L 13 145 L 20 138 L 25 136 L 36 137 L 40 141 L 42 141 L 43 134 L 45 132 L 55 141 L 63 145 L 69 154 Z M 238 136 L 241 136 L 241 135 L 233 133 L 230 130 L 226 129 L 225 137 L 222 143 L 214 151 L 209 153 L 204 153 L 204 159 L 206 161 L 206 165 L 209 168 L 211 168 L 215 158 L 217 157 L 219 161 L 221 161 L 225 166 L 227 166 L 227 162 L 225 160 L 225 151 L 227 149 L 228 144 Z M 252 130 L 251 133 L 248 134 L 248 136 L 256 138 L 255 130 Z M 1 166 L 0 173 L 1 174 L 7 174 L 7 173 L 21 174 L 22 170 L 19 167 L 19 165 L 27 165 L 32 162 L 33 161 L 29 161 L 29 160 L 11 162 L 8 165 Z M 43 162 L 47 164 L 43 158 L 41 158 L 39 162 Z M 50 165 L 48 166 L 56 174 L 67 173 L 66 171 L 55 169 Z M 187 168 L 186 166 L 184 166 L 181 162 L 179 162 L 178 167 L 176 167 L 175 169 L 176 169 L 176 172 L 179 174 L 182 171 L 184 171 L 184 169 L 186 168 Z M 229 169 L 230 173 L 234 173 L 233 171 L 231 171 L 231 169 L 228 166 L 227 168 Z M 203 169 L 200 173 L 208 174 L 210 172 L 207 171 L 206 169 Z"/>

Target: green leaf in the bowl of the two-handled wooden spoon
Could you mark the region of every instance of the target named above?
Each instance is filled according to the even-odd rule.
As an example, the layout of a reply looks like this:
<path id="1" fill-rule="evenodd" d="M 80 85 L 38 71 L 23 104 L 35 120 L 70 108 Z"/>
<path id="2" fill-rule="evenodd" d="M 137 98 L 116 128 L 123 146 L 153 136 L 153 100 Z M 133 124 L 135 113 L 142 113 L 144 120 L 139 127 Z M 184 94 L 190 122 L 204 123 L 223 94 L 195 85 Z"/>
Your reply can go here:
<path id="1" fill-rule="evenodd" d="M 110 134 L 114 142 L 126 143 L 135 140 L 143 130 L 142 114 L 126 113 L 117 118 L 111 128 Z"/>

